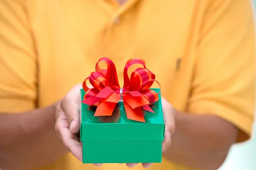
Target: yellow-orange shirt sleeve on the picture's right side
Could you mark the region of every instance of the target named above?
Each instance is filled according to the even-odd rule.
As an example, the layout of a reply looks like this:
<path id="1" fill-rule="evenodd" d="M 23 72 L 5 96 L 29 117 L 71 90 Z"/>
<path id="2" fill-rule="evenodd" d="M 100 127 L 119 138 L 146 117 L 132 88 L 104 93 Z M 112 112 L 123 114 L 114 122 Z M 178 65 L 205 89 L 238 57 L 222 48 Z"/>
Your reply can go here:
<path id="1" fill-rule="evenodd" d="M 239 128 L 238 142 L 252 133 L 255 51 L 250 0 L 209 1 L 198 42 L 189 111 L 231 122 Z"/>

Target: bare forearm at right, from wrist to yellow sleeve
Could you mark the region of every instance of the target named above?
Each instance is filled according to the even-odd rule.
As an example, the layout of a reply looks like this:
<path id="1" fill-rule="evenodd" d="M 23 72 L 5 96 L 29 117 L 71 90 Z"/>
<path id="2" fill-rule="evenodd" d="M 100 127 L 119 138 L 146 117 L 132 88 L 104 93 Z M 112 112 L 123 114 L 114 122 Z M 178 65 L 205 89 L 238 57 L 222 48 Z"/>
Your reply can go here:
<path id="1" fill-rule="evenodd" d="M 172 135 L 172 144 L 163 156 L 177 164 L 195 169 L 218 169 L 230 146 L 236 142 L 238 129 L 210 114 L 196 115 L 173 111 L 176 112 L 177 128 Z"/>

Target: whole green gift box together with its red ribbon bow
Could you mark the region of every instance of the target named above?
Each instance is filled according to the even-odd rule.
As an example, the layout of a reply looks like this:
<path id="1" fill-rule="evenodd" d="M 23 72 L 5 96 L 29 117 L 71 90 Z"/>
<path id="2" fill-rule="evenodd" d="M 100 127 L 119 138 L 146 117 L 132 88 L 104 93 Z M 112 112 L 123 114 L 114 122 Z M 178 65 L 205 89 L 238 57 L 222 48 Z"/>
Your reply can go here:
<path id="1" fill-rule="evenodd" d="M 134 85 L 140 79 L 131 75 L 127 79 L 129 85 L 124 83 L 124 88 L 119 88 L 117 78 L 116 82 L 110 78 L 116 76 L 113 62 L 108 58 L 99 61 L 107 61 L 108 69 L 99 70 L 96 65 L 96 72 L 84 80 L 80 91 L 83 163 L 162 162 L 165 125 L 160 88 L 147 88 L 151 86 L 154 74 L 147 72 L 149 80 L 144 79 L 142 86 Z M 138 61 L 141 60 L 135 59 L 132 63 Z M 131 61 L 128 63 L 131 65 Z M 142 70 L 136 71 L 139 74 L 134 74 L 135 77 L 146 74 Z M 99 72 L 102 74 L 95 76 Z M 96 79 L 100 80 L 93 82 Z M 87 87 L 86 80 L 93 88 Z"/>

